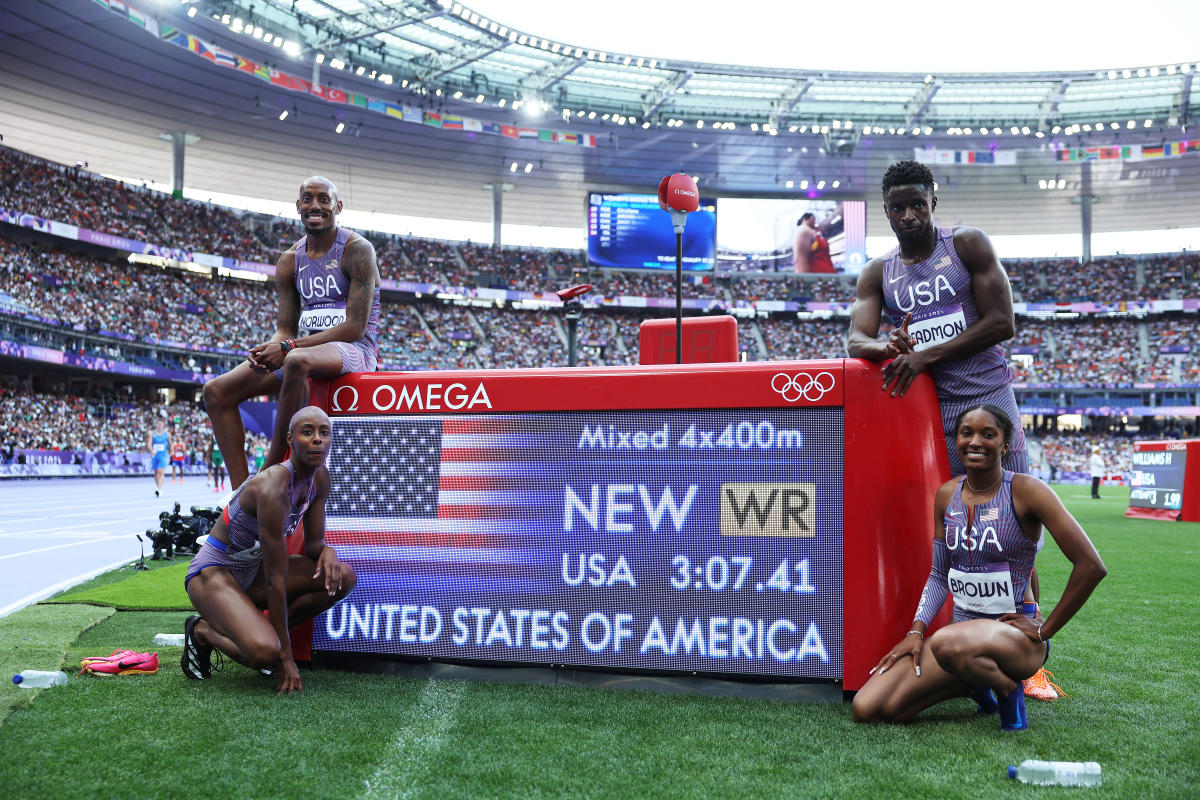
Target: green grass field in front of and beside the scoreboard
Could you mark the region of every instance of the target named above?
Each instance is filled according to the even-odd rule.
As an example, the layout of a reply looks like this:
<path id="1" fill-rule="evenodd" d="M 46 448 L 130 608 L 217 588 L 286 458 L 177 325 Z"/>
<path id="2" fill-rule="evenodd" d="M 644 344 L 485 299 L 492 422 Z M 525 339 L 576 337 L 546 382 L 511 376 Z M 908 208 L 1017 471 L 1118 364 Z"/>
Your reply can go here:
<path id="1" fill-rule="evenodd" d="M 181 630 L 182 612 L 80 604 L 172 607 L 162 581 L 146 582 L 143 602 L 119 575 L 0 619 L 0 796 L 1198 798 L 1200 524 L 1127 521 L 1116 488 L 1099 501 L 1086 487 L 1058 492 L 1109 577 L 1055 638 L 1048 666 L 1070 697 L 1031 700 L 1024 733 L 1002 734 L 965 699 L 884 727 L 854 724 L 845 704 L 334 670 L 306 670 L 304 694 L 276 697 L 236 664 L 187 681 L 178 649 L 160 654 L 157 675 L 7 684 L 17 668 L 70 670 Z M 1068 567 L 1048 541 L 1044 608 Z M 1006 766 L 1025 758 L 1097 760 L 1104 786 L 1009 781 Z"/>

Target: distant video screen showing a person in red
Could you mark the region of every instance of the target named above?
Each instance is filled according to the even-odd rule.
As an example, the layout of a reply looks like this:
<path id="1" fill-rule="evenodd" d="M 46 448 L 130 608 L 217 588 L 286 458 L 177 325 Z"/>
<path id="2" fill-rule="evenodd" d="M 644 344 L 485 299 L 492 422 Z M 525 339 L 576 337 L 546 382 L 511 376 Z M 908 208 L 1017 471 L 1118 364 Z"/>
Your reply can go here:
<path id="1" fill-rule="evenodd" d="M 812 215 L 812 224 L 802 225 L 800 218 L 808 213 Z M 802 231 L 805 247 L 798 269 L 797 240 Z M 828 253 L 828 263 L 821 253 Z M 724 197 L 716 258 L 721 270 L 857 275 L 866 265 L 866 203 Z"/>

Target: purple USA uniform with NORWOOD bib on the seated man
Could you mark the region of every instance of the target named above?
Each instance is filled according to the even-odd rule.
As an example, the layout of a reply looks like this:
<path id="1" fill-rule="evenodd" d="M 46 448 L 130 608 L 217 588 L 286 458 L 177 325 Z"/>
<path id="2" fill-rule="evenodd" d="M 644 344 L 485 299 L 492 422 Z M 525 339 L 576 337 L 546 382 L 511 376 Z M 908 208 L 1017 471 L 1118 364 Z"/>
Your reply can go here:
<path id="1" fill-rule="evenodd" d="M 350 278 L 342 271 L 342 253 L 352 234 L 348 228 L 338 228 L 334 246 L 319 259 L 308 258 L 307 236 L 296 242 L 300 336 L 329 330 L 346 321 L 346 300 L 350 291 Z M 348 372 L 374 372 L 379 362 L 378 329 L 379 287 L 376 287 L 362 338 L 358 342 L 331 342 L 342 353 L 343 375 Z M 275 375 L 283 380 L 283 369 L 276 369 Z"/>

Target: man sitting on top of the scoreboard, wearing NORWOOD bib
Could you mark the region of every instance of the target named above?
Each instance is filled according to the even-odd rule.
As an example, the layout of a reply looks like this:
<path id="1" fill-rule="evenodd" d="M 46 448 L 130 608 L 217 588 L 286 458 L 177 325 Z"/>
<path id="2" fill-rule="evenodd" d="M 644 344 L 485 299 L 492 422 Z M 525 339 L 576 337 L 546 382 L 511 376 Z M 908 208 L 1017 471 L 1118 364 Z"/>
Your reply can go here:
<path id="1" fill-rule="evenodd" d="M 266 465 L 278 464 L 287 452 L 288 420 L 308 401 L 308 378 L 372 372 L 378 362 L 374 248 L 337 225 L 342 201 L 328 178 L 313 176 L 300 186 L 296 211 L 305 235 L 275 266 L 280 305 L 274 336 L 204 385 L 205 407 L 235 487 L 250 474 L 239 403 L 278 390 Z"/>

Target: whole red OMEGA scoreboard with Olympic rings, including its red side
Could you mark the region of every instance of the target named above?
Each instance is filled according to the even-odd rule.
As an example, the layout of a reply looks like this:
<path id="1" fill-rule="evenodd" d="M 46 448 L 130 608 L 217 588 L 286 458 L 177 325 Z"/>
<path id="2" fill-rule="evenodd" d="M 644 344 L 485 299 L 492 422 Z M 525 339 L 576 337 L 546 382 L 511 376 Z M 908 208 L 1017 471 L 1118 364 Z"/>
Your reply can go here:
<path id="1" fill-rule="evenodd" d="M 857 688 L 912 618 L 946 471 L 931 383 L 878 381 L 840 360 L 338 379 L 325 540 L 359 582 L 313 648 Z"/>

